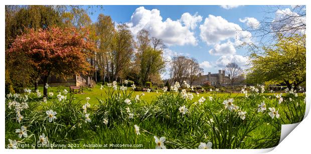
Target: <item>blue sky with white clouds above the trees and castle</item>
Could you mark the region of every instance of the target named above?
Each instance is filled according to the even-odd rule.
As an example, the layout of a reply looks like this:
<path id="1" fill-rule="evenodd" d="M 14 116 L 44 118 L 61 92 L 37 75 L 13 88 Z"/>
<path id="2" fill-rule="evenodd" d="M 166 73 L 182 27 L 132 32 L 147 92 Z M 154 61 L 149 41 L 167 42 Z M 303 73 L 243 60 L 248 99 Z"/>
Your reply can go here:
<path id="1" fill-rule="evenodd" d="M 167 60 L 176 55 L 194 57 L 208 72 L 216 73 L 229 62 L 249 68 L 248 50 L 238 47 L 243 42 L 256 42 L 246 27 L 256 29 L 265 16 L 282 17 L 292 6 L 268 13 L 266 5 L 104 5 L 92 7 L 91 20 L 99 13 L 110 15 L 118 23 L 126 23 L 135 38 L 140 29 L 164 40 Z M 168 72 L 162 74 L 168 78 Z"/>

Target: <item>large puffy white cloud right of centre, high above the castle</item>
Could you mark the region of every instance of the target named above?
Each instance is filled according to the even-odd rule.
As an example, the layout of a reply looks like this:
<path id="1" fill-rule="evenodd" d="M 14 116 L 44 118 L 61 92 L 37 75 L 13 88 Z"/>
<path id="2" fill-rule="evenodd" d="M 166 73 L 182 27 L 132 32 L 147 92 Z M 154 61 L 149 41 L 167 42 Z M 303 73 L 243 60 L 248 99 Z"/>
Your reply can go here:
<path id="1" fill-rule="evenodd" d="M 221 16 L 209 15 L 200 25 L 200 36 L 207 44 L 219 43 L 222 40 L 235 38 L 237 30 L 242 28 L 233 22 L 228 22 Z"/>

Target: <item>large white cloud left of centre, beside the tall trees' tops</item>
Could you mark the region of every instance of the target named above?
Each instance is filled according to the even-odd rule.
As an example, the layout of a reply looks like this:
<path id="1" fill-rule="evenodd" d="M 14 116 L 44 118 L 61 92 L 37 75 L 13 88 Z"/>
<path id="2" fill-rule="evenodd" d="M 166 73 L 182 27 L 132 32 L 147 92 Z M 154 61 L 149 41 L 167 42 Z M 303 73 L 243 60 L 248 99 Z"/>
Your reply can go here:
<path id="1" fill-rule="evenodd" d="M 172 20 L 171 18 L 163 21 L 160 10 L 148 10 L 140 6 L 135 9 L 127 25 L 129 25 L 134 36 L 136 36 L 139 30 L 146 29 L 151 36 L 163 39 L 168 45 L 197 45 L 194 32 L 190 30 L 191 27 L 195 26 L 196 23 L 194 22 L 198 21 L 198 15 L 195 15 L 194 18 L 190 21 L 184 15 L 183 22 L 185 25 L 180 20 Z M 186 26 L 186 24 L 190 27 Z"/>

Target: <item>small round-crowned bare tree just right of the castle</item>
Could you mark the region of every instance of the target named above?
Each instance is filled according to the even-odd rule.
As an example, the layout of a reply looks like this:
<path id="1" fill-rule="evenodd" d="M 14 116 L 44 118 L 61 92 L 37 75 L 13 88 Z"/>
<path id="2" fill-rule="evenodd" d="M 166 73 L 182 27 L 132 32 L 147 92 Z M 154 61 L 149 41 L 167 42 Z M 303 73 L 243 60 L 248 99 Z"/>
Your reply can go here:
<path id="1" fill-rule="evenodd" d="M 230 76 L 230 82 L 233 85 L 241 77 L 243 69 L 237 63 L 231 62 L 226 65 L 225 73 Z"/>

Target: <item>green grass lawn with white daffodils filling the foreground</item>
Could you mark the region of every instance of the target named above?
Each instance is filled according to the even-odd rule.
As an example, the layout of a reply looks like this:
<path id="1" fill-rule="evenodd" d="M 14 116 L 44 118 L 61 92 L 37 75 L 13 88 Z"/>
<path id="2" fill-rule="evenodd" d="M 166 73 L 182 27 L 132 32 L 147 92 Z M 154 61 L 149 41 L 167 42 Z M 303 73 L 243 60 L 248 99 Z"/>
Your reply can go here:
<path id="1" fill-rule="evenodd" d="M 18 97 L 7 96 L 6 143 L 12 139 L 20 144 L 31 144 L 45 133 L 49 136 L 49 143 L 75 145 L 66 148 L 98 148 L 85 145 L 111 143 L 142 145 L 132 148 L 154 148 L 154 136 L 166 137 L 167 148 L 198 148 L 200 142 L 212 142 L 212 148 L 268 148 L 278 144 L 281 124 L 301 121 L 305 110 L 302 93 L 297 96 L 284 93 L 281 103 L 273 96 L 277 93 L 254 91 L 250 91 L 247 98 L 243 93 L 213 91 L 199 96 L 192 93 L 192 100 L 189 93 L 185 97 L 182 92 L 153 91 L 144 92 L 140 100 L 135 100 L 136 94 L 141 95 L 142 91 L 129 91 L 128 87 L 126 94 L 119 95 L 123 91 L 117 90 L 119 93 L 108 96 L 105 91 L 110 89 L 111 92 L 112 88 L 104 88 L 101 90 L 100 85 L 84 88 L 83 94 L 67 94 L 67 99 L 59 101 L 58 93 L 64 95 L 64 89 L 69 91 L 69 87 L 49 87 L 48 92 L 54 95 L 48 98 L 48 103 L 43 102 L 42 96 L 38 98 L 32 88 L 27 105 L 23 105 L 27 107 L 21 112 L 16 108 L 25 103 L 27 93 Z M 43 87 L 39 90 L 42 93 Z M 211 95 L 213 98 L 209 99 Z M 90 97 L 90 106 L 84 110 L 86 97 Z M 205 100 L 201 99 L 199 103 L 201 97 Z M 230 98 L 234 98 L 231 104 L 234 108 L 228 107 Z M 126 99 L 131 103 L 126 103 Z M 19 103 L 12 103 L 14 101 Z M 265 109 L 257 111 L 258 104 L 262 103 L 265 103 Z M 275 107 L 275 110 L 271 111 L 269 107 Z M 57 118 L 51 121 L 47 116 L 50 110 L 57 112 Z M 17 111 L 23 116 L 20 122 Z M 275 113 L 273 117 L 271 112 Z M 134 129 L 135 125 L 139 126 L 140 134 Z M 28 136 L 18 136 L 16 129 L 21 126 L 27 127 Z M 37 145 L 36 148 L 42 147 Z"/>

